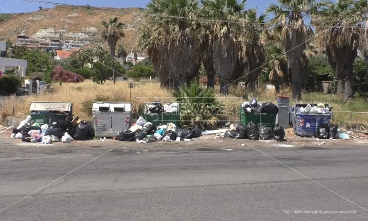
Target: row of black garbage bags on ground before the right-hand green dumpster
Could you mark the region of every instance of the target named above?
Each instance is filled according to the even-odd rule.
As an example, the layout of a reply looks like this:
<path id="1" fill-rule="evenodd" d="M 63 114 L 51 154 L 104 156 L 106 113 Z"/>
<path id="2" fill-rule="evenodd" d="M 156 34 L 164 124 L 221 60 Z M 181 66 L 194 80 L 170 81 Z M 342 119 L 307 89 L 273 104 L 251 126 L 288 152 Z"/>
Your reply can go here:
<path id="1" fill-rule="evenodd" d="M 249 140 L 270 140 L 283 141 L 285 138 L 285 129 L 283 126 L 276 124 L 275 128 L 260 126 L 249 122 L 247 126 L 238 124 L 236 129 L 227 130 L 224 134 L 225 138 L 249 139 Z"/>

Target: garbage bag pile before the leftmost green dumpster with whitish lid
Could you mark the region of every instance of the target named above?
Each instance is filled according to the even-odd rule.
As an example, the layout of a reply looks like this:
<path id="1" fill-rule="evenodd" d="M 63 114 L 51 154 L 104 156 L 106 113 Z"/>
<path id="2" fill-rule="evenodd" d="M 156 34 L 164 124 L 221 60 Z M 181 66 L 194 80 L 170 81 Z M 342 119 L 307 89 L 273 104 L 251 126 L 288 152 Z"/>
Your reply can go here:
<path id="1" fill-rule="evenodd" d="M 52 124 L 31 125 L 31 116 L 22 120 L 11 134 L 12 139 L 20 139 L 25 142 L 51 144 L 52 142 L 71 143 L 74 140 L 89 140 L 94 137 L 94 131 L 90 122 L 81 121 L 73 126 L 70 120 L 54 122 Z"/>

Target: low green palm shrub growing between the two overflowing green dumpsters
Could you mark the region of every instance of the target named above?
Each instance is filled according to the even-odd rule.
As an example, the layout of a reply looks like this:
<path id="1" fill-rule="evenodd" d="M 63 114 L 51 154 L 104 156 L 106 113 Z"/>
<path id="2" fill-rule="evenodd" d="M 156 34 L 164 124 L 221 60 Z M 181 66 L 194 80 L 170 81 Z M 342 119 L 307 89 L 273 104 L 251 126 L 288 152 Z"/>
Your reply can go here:
<path id="1" fill-rule="evenodd" d="M 213 128 L 219 120 L 219 113 L 225 109 L 213 88 L 205 88 L 198 81 L 173 91 L 172 96 L 180 104 L 182 125 Z"/>

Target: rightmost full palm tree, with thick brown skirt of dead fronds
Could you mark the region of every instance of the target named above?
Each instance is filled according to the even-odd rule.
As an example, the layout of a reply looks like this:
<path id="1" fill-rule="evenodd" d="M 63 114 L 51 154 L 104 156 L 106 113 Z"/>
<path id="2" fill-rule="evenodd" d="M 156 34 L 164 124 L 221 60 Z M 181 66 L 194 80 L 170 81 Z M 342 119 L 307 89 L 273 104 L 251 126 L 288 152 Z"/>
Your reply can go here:
<path id="1" fill-rule="evenodd" d="M 313 21 L 318 42 L 325 48 L 329 63 L 337 77 L 337 94 L 350 99 L 353 91 L 353 64 L 357 57 L 359 33 L 357 20 L 352 16 L 354 0 L 339 0 L 336 3 L 324 2 L 320 15 Z M 350 26 L 350 27 L 348 27 Z"/>

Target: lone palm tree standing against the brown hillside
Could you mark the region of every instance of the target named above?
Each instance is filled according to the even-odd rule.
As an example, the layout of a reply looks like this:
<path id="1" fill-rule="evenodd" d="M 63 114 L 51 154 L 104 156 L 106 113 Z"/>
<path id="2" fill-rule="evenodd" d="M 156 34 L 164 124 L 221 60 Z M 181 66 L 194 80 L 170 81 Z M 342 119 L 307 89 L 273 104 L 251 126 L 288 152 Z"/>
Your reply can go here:
<path id="1" fill-rule="evenodd" d="M 118 18 L 110 18 L 109 22 L 102 22 L 102 40 L 107 42 L 110 47 L 111 55 L 115 57 L 116 43 L 125 37 L 124 34 L 124 24 L 117 22 Z"/>

